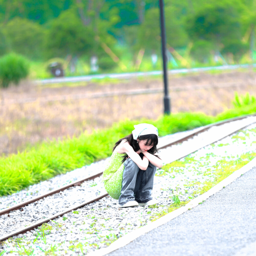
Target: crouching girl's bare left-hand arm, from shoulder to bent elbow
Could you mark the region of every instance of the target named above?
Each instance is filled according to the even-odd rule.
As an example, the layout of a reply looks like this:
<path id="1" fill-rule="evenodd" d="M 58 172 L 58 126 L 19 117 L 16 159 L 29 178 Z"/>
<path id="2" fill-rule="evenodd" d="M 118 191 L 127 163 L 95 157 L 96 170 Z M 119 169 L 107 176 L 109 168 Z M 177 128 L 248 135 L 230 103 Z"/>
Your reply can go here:
<path id="1" fill-rule="evenodd" d="M 141 170 L 146 170 L 148 167 L 148 159 L 147 157 L 143 156 L 141 157 L 136 153 L 132 146 L 128 142 L 121 142 L 118 147 L 117 147 L 117 152 L 119 154 L 126 153 L 132 161 L 141 169 Z"/>

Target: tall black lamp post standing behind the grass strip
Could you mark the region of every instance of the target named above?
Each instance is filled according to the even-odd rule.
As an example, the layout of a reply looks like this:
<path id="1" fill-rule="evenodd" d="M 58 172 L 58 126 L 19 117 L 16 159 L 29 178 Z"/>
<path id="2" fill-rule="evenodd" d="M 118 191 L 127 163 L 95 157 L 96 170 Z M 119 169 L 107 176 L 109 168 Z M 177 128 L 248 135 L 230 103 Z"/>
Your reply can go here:
<path id="1" fill-rule="evenodd" d="M 170 114 L 170 97 L 168 94 L 168 76 L 167 76 L 167 56 L 166 56 L 166 36 L 165 36 L 165 22 L 164 22 L 164 0 L 159 0 L 160 8 L 160 24 L 161 24 L 161 38 L 162 38 L 162 55 L 164 68 L 164 114 Z"/>

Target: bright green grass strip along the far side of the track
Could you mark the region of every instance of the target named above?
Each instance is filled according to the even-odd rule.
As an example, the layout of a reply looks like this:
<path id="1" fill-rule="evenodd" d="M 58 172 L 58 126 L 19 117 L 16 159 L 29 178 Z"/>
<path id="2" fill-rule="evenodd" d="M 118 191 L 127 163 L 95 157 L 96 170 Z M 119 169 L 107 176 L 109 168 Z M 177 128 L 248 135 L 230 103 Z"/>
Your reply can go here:
<path id="1" fill-rule="evenodd" d="M 178 113 L 161 116 L 155 121 L 124 120 L 91 134 L 84 132 L 78 137 L 48 141 L 29 151 L 0 158 L 0 196 L 110 156 L 114 143 L 130 134 L 137 123 L 152 123 L 158 128 L 159 135 L 165 136 L 255 112 L 256 104 L 251 104 L 227 110 L 216 117 L 204 113 Z"/>

